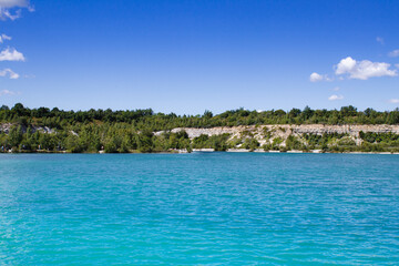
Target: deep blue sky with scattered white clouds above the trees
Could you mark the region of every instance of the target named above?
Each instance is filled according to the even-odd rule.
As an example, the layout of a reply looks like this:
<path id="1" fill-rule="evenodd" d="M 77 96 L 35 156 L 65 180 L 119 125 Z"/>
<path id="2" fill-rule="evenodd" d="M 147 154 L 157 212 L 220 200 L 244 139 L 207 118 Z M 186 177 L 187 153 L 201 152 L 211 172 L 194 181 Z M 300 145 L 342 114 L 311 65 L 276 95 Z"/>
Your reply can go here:
<path id="1" fill-rule="evenodd" d="M 399 1 L 0 0 L 0 105 L 399 106 Z"/>

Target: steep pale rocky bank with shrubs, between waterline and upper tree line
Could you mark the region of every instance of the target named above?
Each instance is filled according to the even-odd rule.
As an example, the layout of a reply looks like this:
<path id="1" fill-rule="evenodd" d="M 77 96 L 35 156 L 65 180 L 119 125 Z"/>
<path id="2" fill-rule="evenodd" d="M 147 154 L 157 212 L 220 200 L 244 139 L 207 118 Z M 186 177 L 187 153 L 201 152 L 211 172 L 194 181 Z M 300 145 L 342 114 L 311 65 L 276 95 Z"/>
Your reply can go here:
<path id="1" fill-rule="evenodd" d="M 136 129 L 106 132 L 93 125 L 74 132 L 57 131 L 48 126 L 19 127 L 17 124 L 0 124 L 2 151 L 72 152 L 167 152 L 176 150 L 207 149 L 216 151 L 245 149 L 248 151 L 324 151 L 324 152 L 399 152 L 399 125 L 324 125 L 324 124 L 269 124 L 221 126 L 209 129 L 177 127 L 143 133 Z M 182 131 L 185 133 L 182 134 Z M 95 134 L 94 134 L 95 133 Z M 106 135 L 109 133 L 109 135 Z M 172 134 L 171 134 L 172 133 Z M 175 133 L 175 134 L 173 134 Z M 177 134 L 178 133 L 178 134 Z M 28 136 L 29 135 L 29 136 Z M 201 136 L 201 137 L 200 137 Z"/>

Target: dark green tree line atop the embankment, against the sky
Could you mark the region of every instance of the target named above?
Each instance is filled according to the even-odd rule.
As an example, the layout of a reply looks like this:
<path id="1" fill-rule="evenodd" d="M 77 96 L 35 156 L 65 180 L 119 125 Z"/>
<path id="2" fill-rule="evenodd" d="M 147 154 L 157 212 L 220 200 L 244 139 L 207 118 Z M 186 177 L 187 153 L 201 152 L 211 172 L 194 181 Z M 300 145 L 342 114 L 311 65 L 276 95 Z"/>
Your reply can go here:
<path id="1" fill-rule="evenodd" d="M 237 109 L 214 115 L 205 111 L 198 115 L 177 115 L 175 113 L 154 113 L 152 109 L 112 111 L 63 111 L 54 108 L 29 109 L 21 103 L 13 108 L 0 108 L 0 122 L 19 123 L 22 125 L 40 125 L 52 129 L 64 129 L 80 123 L 127 123 L 136 129 L 151 131 L 170 130 L 174 127 L 214 127 L 256 124 L 399 124 L 399 110 L 379 112 L 374 109 L 358 111 L 356 108 L 342 106 L 340 110 L 304 110 L 291 109 L 248 111 Z"/>

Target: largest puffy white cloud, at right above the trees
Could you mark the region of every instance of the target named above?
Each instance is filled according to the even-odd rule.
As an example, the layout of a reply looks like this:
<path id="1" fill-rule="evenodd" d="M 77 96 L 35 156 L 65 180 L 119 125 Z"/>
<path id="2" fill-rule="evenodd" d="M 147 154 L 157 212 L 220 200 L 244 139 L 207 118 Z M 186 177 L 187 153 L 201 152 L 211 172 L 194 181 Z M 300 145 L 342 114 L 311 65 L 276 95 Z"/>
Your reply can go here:
<path id="1" fill-rule="evenodd" d="M 395 76 L 397 70 L 390 70 L 389 63 L 371 62 L 369 60 L 356 61 L 348 57 L 336 66 L 336 74 L 349 74 L 349 79 L 367 80 L 372 76 Z"/>

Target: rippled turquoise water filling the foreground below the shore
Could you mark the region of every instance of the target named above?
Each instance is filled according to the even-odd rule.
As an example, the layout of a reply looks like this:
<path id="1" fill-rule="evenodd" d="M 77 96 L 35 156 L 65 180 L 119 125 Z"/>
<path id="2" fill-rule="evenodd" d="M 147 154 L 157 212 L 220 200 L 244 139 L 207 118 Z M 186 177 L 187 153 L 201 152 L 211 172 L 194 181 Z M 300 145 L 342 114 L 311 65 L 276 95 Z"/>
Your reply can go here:
<path id="1" fill-rule="evenodd" d="M 399 265 L 399 155 L 0 155 L 0 265 Z"/>

